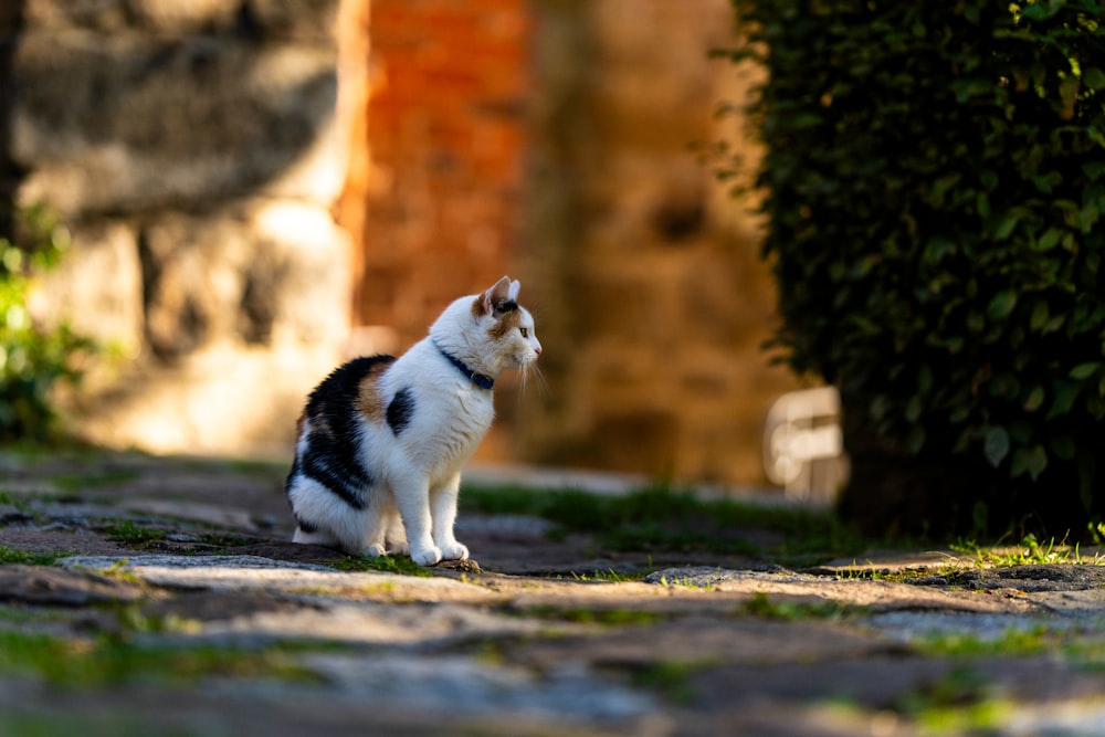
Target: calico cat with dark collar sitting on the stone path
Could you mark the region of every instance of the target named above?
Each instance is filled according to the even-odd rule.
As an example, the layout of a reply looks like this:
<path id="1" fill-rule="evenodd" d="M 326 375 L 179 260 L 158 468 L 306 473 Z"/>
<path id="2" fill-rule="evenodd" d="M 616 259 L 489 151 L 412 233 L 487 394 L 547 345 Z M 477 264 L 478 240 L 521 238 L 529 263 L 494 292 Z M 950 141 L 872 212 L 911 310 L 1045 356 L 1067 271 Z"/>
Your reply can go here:
<path id="1" fill-rule="evenodd" d="M 295 543 L 350 555 L 464 560 L 453 535 L 461 468 L 494 417 L 492 387 L 541 352 L 522 285 L 453 302 L 399 358 L 356 358 L 307 398 L 285 492 Z"/>

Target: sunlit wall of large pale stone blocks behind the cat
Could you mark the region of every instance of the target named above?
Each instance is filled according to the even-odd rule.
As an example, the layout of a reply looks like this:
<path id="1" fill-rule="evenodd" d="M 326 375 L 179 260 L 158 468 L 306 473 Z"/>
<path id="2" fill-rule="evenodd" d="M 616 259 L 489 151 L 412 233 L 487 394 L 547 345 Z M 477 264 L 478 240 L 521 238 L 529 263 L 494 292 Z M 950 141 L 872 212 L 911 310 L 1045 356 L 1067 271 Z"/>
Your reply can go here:
<path id="1" fill-rule="evenodd" d="M 40 317 L 119 347 L 91 439 L 286 454 L 348 333 L 329 208 L 338 0 L 28 0 L 12 67 L 17 199 L 73 252 Z"/>

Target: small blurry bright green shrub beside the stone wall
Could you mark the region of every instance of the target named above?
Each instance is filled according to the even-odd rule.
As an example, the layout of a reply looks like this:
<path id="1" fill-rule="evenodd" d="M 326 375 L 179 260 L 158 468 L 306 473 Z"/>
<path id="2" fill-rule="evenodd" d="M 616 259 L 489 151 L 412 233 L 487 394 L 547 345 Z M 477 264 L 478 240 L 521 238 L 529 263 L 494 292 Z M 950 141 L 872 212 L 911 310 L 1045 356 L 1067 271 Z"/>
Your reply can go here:
<path id="1" fill-rule="evenodd" d="M 32 316 L 34 275 L 56 266 L 67 238 L 45 209 L 20 215 L 18 243 L 0 239 L 0 442 L 41 442 L 56 429 L 52 389 L 78 381 L 74 359 L 94 346 L 65 324 L 45 327 Z"/>

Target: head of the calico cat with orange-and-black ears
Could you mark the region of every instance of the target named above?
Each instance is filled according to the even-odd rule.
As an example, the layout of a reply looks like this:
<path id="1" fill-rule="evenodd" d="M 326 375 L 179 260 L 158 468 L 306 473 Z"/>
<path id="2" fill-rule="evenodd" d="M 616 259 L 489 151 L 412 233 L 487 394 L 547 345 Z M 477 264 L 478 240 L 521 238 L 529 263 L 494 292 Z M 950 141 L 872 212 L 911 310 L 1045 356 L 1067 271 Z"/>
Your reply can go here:
<path id="1" fill-rule="evenodd" d="M 504 276 L 486 292 L 457 299 L 434 323 L 430 335 L 488 376 L 505 369 L 525 370 L 537 360 L 541 344 L 534 316 L 518 304 L 520 288 L 519 282 Z"/>

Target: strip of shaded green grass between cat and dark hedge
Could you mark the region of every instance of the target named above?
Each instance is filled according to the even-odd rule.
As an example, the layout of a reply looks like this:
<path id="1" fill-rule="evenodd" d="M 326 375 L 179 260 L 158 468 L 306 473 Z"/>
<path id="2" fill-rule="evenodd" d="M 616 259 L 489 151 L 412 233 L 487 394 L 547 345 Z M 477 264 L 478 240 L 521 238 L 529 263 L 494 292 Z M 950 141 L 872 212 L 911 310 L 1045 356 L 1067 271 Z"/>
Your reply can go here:
<path id="1" fill-rule="evenodd" d="M 662 484 L 624 495 L 525 486 L 465 486 L 461 507 L 470 512 L 543 517 L 562 530 L 592 534 L 611 550 L 804 559 L 855 555 L 871 543 L 829 510 L 703 499 L 693 492 Z M 749 529 L 776 533 L 782 541 L 771 549 L 761 549 L 744 536 Z"/>

